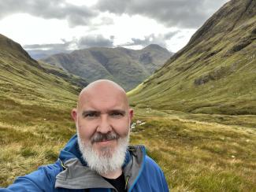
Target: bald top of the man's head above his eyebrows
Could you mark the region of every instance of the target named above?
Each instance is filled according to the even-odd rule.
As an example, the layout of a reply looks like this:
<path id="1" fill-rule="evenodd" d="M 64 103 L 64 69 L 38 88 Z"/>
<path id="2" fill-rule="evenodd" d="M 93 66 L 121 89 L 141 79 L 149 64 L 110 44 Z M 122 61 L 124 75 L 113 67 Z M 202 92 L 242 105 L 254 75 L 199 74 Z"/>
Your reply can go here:
<path id="1" fill-rule="evenodd" d="M 77 108 L 80 109 L 85 102 L 98 100 L 107 102 L 109 98 L 116 98 L 128 107 L 128 98 L 120 85 L 107 79 L 99 79 L 83 88 L 78 98 Z"/>

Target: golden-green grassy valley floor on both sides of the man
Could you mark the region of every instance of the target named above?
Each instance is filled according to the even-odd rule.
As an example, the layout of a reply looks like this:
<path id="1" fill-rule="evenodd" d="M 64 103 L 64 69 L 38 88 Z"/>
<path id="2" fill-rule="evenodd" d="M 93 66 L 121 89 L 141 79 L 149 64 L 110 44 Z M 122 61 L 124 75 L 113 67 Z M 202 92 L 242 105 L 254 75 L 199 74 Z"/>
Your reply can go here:
<path id="1" fill-rule="evenodd" d="M 34 111 L 35 113 L 35 111 Z M 45 114 L 45 113 L 38 113 Z M 0 186 L 58 158 L 76 131 L 69 110 L 0 122 Z M 255 191 L 256 129 L 195 120 L 189 114 L 135 109 L 132 144 L 147 146 L 172 191 Z"/>

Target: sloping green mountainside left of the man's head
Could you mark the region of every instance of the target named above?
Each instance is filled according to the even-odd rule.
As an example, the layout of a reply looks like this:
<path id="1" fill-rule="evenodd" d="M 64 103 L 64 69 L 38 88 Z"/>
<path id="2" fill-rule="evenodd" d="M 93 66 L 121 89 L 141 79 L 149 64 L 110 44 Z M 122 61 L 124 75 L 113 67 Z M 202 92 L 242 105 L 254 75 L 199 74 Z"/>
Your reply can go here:
<path id="1" fill-rule="evenodd" d="M 70 109 L 76 103 L 78 90 L 86 85 L 77 76 L 33 60 L 20 44 L 0 35 L 1 121 L 9 118 L 15 121 L 22 111 L 34 110 L 32 106 L 37 106 L 34 114 L 42 113 L 39 108 L 50 110 L 46 106 Z M 13 111 L 16 108 L 19 110 Z M 10 113 L 13 115 L 9 116 Z"/>

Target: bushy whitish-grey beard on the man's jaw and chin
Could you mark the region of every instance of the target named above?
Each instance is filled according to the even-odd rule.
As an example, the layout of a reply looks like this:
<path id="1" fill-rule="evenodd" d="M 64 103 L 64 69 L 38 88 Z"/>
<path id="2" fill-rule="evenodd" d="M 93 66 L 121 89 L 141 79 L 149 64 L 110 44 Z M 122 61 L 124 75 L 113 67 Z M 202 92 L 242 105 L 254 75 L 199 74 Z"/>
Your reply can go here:
<path id="1" fill-rule="evenodd" d="M 91 170 L 98 172 L 99 175 L 114 172 L 124 164 L 129 135 L 124 138 L 117 138 L 117 147 L 115 149 L 106 147 L 100 152 L 93 150 L 91 142 L 83 142 L 78 131 L 77 138 L 80 152 L 83 155 L 83 160 L 87 162 L 87 165 Z"/>

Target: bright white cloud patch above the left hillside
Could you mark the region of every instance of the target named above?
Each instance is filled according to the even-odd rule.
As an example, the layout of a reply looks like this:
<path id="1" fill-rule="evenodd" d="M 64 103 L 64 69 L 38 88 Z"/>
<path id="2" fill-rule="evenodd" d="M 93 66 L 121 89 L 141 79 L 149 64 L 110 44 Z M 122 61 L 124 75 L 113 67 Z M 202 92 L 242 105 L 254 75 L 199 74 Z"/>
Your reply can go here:
<path id="1" fill-rule="evenodd" d="M 77 31 L 69 28 L 66 20 L 46 20 L 24 13 L 1 20 L 0 28 L 2 34 L 21 45 L 61 42 L 61 39 L 72 39 Z"/>

